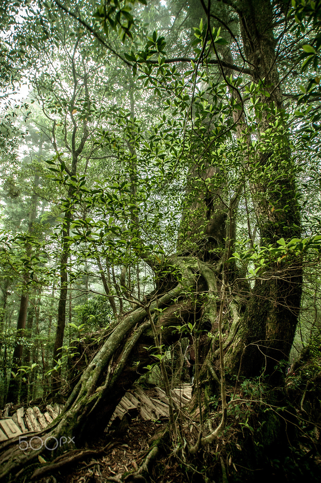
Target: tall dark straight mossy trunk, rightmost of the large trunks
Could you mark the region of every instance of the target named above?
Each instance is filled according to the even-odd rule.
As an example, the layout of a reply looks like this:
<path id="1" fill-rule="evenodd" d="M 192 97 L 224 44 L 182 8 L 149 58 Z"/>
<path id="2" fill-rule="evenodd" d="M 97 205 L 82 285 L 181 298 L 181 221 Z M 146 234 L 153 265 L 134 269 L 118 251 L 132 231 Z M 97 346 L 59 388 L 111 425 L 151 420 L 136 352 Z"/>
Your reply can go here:
<path id="1" fill-rule="evenodd" d="M 296 199 L 295 165 L 289 149 L 289 134 L 283 119 L 281 82 L 277 69 L 273 11 L 269 0 L 235 3 L 239 15 L 245 56 L 253 68 L 253 81 L 261 82 L 262 109 L 258 137 L 261 150 L 256 180 L 250 181 L 254 210 L 260 229 L 261 246 L 300 237 L 300 213 Z M 267 93 L 267 95 L 265 94 Z M 278 118 L 283 134 L 270 142 L 268 132 Z M 266 136 L 267 135 L 267 136 Z M 254 157 L 254 162 L 257 157 Z M 268 169 L 267 169 L 268 167 Z M 249 170 L 253 168 L 251 160 Z M 272 180 L 272 182 L 271 182 Z M 263 270 L 262 270 L 263 272 Z M 286 259 L 272 263 L 256 279 L 236 343 L 227 353 L 227 367 L 241 374 L 271 374 L 281 359 L 287 359 L 294 340 L 302 292 L 300 261 Z M 245 349 L 244 349 L 245 348 Z"/>

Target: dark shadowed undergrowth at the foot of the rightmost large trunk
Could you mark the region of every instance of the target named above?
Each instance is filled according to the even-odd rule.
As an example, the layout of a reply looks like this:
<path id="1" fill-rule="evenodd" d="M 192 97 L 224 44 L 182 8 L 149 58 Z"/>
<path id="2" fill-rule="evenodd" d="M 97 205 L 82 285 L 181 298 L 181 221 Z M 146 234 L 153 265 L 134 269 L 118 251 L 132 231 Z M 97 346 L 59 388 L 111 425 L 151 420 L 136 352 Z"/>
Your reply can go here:
<path id="1" fill-rule="evenodd" d="M 307 378 L 315 381 L 321 375 L 319 364 L 318 358 L 310 358 L 294 376 L 283 377 L 283 384 L 277 388 L 271 388 L 262 377 L 239 381 L 224 434 L 189 462 L 189 481 L 319 481 L 321 459 L 316 448 L 320 384 L 318 388 L 311 386 L 309 394 L 306 392 L 304 411 L 300 409 Z M 227 387 L 227 401 L 234 388 L 232 384 Z M 220 395 L 213 394 L 211 386 L 206 385 L 202 401 L 206 401 L 204 415 L 215 428 L 221 418 Z M 308 411 L 310 407 L 313 411 Z M 209 426 L 205 427 L 208 434 Z"/>

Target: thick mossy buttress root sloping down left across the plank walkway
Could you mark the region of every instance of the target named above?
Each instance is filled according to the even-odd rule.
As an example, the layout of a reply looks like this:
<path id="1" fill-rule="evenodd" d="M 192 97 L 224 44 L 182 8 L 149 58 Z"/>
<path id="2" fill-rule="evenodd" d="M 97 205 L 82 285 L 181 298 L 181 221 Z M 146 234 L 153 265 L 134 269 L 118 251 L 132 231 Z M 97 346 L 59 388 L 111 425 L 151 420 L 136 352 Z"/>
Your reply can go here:
<path id="1" fill-rule="evenodd" d="M 157 314 L 158 309 L 162 309 L 161 315 L 155 318 L 155 327 L 157 333 L 161 331 L 161 341 L 166 345 L 177 340 L 177 331 L 173 330 L 173 326 L 194 322 L 195 303 L 186 297 L 187 289 L 210 295 L 210 302 L 206 304 L 204 310 L 199 310 L 197 317 L 200 317 L 201 328 L 204 324 L 207 327 L 209 322 L 214 327 L 217 316 L 214 298 L 215 293 L 217 295 L 217 272 L 213 267 L 199 263 L 192 257 L 181 260 L 179 265 L 184 273 L 184 284 L 178 284 L 157 302 L 151 302 L 149 314 L 145 308 L 138 308 L 109 328 L 106 342 L 85 369 L 67 400 L 63 412 L 42 433 L 37 433 L 37 436 L 42 440 L 49 437 L 57 440 L 62 437 L 75 438 L 77 445 L 78 441 L 83 442 L 80 435 L 85 436 L 89 427 L 93 428 L 94 425 L 97 427 L 97 424 L 105 427 L 122 396 L 144 372 L 143 368 L 154 362 L 146 350 L 146 347 L 155 344 L 155 334 L 150 327 L 150 315 Z M 205 280 L 202 287 L 199 282 L 200 275 Z M 134 364 L 137 360 L 138 365 Z M 90 431 L 88 433 L 90 434 Z M 57 452 L 59 450 L 62 452 L 64 448 L 57 448 L 56 452 L 50 452 L 44 445 L 37 447 L 34 443 L 33 447 L 35 449 L 23 452 L 18 449 L 16 443 L 12 444 L 0 459 L 0 478 L 9 477 L 10 473 L 16 476 L 19 472 L 24 472 L 30 464 L 33 465 L 38 461 L 38 456 L 41 454 L 45 460 L 51 460 L 53 465 L 59 462 L 62 464 L 62 460 L 57 459 L 57 456 L 59 458 Z M 153 449 L 150 458 L 155 457 L 156 452 L 157 449 Z M 55 460 L 52 459 L 54 453 Z M 67 454 L 66 457 L 67 461 L 68 458 L 72 458 L 72 455 Z M 74 457 L 76 458 L 76 453 Z M 72 459 L 68 461 L 71 463 Z M 38 475 L 37 472 L 34 474 Z"/>

